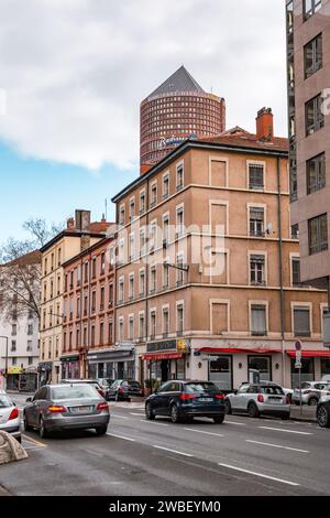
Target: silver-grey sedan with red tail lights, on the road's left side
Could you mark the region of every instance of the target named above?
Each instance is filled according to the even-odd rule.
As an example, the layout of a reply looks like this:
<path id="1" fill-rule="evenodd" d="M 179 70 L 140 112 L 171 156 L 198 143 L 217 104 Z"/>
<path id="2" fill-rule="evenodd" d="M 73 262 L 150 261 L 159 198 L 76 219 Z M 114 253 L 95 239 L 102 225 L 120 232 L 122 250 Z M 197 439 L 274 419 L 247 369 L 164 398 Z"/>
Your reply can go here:
<path id="1" fill-rule="evenodd" d="M 103 435 L 110 421 L 109 406 L 91 384 L 45 385 L 26 402 L 24 429 L 37 429 L 41 438 L 86 429 Z"/>

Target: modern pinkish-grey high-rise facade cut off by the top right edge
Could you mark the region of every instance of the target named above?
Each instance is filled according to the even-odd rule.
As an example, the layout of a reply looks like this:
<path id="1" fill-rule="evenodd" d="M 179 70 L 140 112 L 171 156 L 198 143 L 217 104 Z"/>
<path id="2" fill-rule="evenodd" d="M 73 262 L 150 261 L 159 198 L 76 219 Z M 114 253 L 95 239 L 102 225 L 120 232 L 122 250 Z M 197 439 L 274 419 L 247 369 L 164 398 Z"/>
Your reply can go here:
<path id="1" fill-rule="evenodd" d="M 301 281 L 328 288 L 330 306 L 330 1 L 287 0 L 286 13 L 292 222 Z"/>

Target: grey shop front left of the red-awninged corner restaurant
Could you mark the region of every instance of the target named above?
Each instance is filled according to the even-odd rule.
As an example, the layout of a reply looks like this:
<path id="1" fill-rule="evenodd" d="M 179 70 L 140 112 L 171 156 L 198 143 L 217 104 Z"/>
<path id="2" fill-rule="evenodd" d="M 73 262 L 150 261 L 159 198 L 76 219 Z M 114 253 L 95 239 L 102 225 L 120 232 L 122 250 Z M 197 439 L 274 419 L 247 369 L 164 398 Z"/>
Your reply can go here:
<path id="1" fill-rule="evenodd" d="M 107 350 L 89 352 L 88 377 L 91 379 L 135 379 L 135 347 L 123 345 Z"/>

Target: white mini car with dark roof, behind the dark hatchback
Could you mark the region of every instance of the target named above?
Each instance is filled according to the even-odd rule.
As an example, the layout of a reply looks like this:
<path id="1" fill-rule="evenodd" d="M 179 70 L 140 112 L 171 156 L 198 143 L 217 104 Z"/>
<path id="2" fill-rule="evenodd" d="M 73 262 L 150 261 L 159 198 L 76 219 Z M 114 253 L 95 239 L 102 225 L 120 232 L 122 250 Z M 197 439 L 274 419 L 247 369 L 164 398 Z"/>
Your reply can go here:
<path id="1" fill-rule="evenodd" d="M 289 397 L 283 388 L 274 382 L 243 384 L 232 393 L 226 396 L 226 412 L 244 412 L 251 418 L 258 416 L 279 416 L 289 419 Z"/>

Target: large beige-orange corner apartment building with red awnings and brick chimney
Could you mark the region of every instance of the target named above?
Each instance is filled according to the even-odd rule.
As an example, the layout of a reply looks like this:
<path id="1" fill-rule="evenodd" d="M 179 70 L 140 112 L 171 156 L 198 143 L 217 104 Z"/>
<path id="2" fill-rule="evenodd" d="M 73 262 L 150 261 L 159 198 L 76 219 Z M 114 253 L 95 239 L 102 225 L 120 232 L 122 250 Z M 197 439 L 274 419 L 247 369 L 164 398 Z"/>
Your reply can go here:
<path id="1" fill-rule="evenodd" d="M 188 140 L 114 196 L 117 344 L 134 344 L 146 385 L 202 378 L 231 390 L 261 377 L 295 385 L 329 371 L 326 292 L 300 284 L 289 223 L 288 142 L 271 109 Z M 295 231 L 295 229 L 294 229 Z"/>

